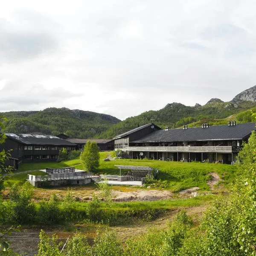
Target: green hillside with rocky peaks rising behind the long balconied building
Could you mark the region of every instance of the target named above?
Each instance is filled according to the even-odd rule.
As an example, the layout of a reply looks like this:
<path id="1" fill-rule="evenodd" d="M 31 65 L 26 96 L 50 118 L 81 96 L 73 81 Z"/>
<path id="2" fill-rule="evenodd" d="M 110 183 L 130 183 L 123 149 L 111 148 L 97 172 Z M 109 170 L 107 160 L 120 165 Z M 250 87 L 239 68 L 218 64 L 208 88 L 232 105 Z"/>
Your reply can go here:
<path id="1" fill-rule="evenodd" d="M 224 119 L 230 115 L 238 114 L 256 106 L 256 102 L 241 101 L 237 103 L 222 102 L 220 99 L 211 99 L 206 105 L 201 106 L 196 104 L 194 107 L 185 106 L 181 103 L 172 103 L 166 105 L 159 111 L 147 111 L 138 116 L 133 116 L 125 119 L 122 122 L 108 128 L 98 138 L 113 138 L 117 134 L 122 134 L 125 131 L 136 128 L 140 125 L 145 125 L 154 122 L 162 128 L 177 128 L 182 125 L 195 122 L 196 125 L 201 125 L 203 122 L 211 124 L 227 123 Z M 246 112 L 244 112 L 247 114 Z M 250 116 L 250 115 L 249 115 Z M 240 114 L 240 122 L 250 122 L 245 120 L 243 113 Z"/>

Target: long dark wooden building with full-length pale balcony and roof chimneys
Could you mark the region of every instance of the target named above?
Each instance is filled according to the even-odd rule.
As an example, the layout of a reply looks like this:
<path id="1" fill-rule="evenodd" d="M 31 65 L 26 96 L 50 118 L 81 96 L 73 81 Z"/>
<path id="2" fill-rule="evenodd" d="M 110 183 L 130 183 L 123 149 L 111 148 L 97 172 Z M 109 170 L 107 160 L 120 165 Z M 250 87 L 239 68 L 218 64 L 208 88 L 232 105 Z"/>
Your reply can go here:
<path id="1" fill-rule="evenodd" d="M 234 163 L 243 141 L 247 141 L 256 123 L 169 129 L 153 123 L 114 137 L 115 150 L 131 158 L 156 160 Z"/>

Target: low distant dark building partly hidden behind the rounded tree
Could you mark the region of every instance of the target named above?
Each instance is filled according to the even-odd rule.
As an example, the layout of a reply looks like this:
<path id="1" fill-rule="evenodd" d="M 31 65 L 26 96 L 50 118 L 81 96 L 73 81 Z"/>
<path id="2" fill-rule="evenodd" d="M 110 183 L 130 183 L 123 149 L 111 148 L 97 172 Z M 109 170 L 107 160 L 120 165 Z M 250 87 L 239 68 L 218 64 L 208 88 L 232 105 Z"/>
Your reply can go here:
<path id="1" fill-rule="evenodd" d="M 83 150 L 87 141 L 95 142 L 100 151 L 114 150 L 114 140 L 95 140 L 95 139 L 67 139 L 67 141 L 76 144 L 76 150 Z"/>

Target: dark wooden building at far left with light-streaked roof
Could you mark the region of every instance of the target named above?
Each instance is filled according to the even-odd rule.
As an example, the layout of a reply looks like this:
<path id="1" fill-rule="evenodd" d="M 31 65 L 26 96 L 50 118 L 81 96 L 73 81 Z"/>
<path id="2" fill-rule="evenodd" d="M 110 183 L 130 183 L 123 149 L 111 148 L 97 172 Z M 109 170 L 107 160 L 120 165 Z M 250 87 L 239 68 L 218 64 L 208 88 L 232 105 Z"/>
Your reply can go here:
<path id="1" fill-rule="evenodd" d="M 0 151 L 10 151 L 18 163 L 56 161 L 62 148 L 74 150 L 76 144 L 52 135 L 5 134 L 5 143 L 0 144 Z"/>

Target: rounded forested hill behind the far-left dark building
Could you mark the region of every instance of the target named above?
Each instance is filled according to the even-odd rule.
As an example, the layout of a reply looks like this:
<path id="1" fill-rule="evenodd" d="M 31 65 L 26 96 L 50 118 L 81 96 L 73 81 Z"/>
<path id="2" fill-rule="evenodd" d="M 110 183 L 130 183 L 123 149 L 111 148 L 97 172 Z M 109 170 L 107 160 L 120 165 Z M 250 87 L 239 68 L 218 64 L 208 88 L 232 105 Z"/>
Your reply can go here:
<path id="1" fill-rule="evenodd" d="M 9 133 L 64 133 L 71 138 L 92 138 L 120 122 L 114 116 L 68 108 L 46 108 L 43 111 L 12 111 L 0 113 L 6 116 Z"/>

